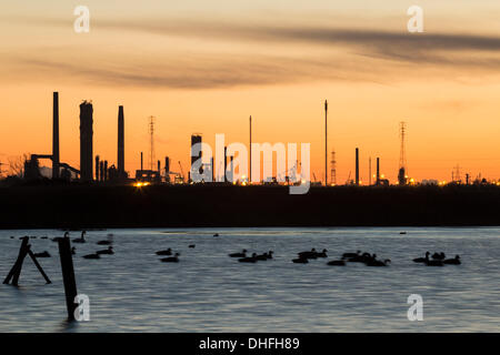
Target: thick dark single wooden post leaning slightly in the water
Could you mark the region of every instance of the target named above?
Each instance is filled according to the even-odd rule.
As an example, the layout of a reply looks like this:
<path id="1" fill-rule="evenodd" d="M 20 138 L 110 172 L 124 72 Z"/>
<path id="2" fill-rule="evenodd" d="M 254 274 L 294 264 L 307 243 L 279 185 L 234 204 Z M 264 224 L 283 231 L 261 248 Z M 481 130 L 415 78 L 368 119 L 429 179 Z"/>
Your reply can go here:
<path id="1" fill-rule="evenodd" d="M 74 297 L 77 296 L 77 282 L 74 280 L 73 258 L 71 255 L 71 245 L 69 237 L 61 237 L 58 240 L 59 256 L 61 260 L 62 281 L 64 283 L 66 307 L 68 308 L 68 320 L 74 321 L 74 310 L 77 304 Z"/>

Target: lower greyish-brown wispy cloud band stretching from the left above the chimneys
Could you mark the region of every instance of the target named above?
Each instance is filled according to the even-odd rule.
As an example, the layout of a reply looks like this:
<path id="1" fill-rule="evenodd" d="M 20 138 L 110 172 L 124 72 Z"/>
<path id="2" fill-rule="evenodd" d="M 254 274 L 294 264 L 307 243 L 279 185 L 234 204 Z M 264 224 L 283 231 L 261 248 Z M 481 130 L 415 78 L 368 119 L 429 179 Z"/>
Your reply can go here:
<path id="1" fill-rule="evenodd" d="M 191 54 L 189 59 L 163 58 L 154 63 L 131 57 L 112 61 L 71 61 L 38 58 L 12 58 L 18 65 L 16 77 L 22 69 L 37 78 L 66 78 L 71 81 L 111 85 L 143 85 L 173 89 L 220 89 L 240 85 L 267 85 L 318 80 L 369 80 L 350 74 L 349 68 L 331 61 L 291 59 L 271 55 L 224 55 L 223 58 Z M 34 74 L 33 74 L 34 73 Z"/>

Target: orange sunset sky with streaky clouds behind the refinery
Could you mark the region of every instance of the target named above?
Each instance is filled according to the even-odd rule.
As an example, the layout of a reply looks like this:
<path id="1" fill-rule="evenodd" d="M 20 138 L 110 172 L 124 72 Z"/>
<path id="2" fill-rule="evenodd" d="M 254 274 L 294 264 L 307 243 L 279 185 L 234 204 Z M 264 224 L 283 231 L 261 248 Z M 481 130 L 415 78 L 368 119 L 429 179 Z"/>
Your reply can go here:
<path id="1" fill-rule="evenodd" d="M 89 33 L 73 31 L 79 4 Z M 412 4 L 423 33 L 407 30 Z M 51 153 L 59 91 L 61 161 L 76 168 L 86 99 L 110 163 L 124 105 L 129 172 L 148 155 L 150 115 L 157 159 L 188 171 L 191 133 L 248 144 L 251 114 L 254 142 L 311 143 L 322 179 L 327 99 L 338 183 L 353 178 L 356 146 L 363 183 L 369 156 L 394 182 L 400 121 L 411 178 L 449 181 L 457 164 L 500 178 L 498 0 L 2 1 L 0 19 L 1 162 Z"/>

